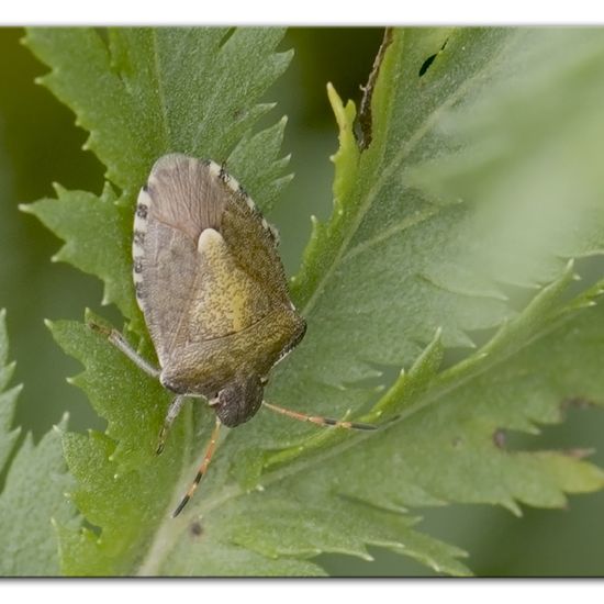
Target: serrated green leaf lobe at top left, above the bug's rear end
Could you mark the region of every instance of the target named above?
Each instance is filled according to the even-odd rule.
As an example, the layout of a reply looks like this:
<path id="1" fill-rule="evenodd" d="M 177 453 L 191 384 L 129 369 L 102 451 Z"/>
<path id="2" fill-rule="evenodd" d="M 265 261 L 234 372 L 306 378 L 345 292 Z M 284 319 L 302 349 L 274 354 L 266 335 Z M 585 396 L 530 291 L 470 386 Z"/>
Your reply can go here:
<path id="1" fill-rule="evenodd" d="M 26 44 L 53 68 L 41 82 L 90 132 L 87 148 L 108 179 L 132 193 L 165 153 L 228 158 L 271 107 L 258 101 L 291 58 L 275 53 L 282 35 L 270 27 L 113 27 L 105 38 L 89 27 L 34 27 Z"/>

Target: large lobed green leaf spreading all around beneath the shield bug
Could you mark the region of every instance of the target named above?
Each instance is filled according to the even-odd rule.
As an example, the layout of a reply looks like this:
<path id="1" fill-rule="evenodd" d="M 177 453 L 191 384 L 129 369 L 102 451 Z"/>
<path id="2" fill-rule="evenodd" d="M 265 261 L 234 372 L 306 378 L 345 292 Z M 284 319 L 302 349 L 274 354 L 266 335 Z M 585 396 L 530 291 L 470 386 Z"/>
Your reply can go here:
<path id="1" fill-rule="evenodd" d="M 60 190 L 33 212 L 67 241 L 63 259 L 103 279 L 149 359 L 132 310 L 131 231 L 118 215 L 132 211 L 153 159 L 166 150 L 216 159 L 222 149 L 267 209 L 284 182 L 284 122 L 250 131 L 266 109 L 257 99 L 286 64 L 273 53 L 279 36 L 228 33 L 222 45 L 227 32 L 217 30 L 111 31 L 108 45 L 86 30 L 29 34 L 53 68 L 46 82 L 123 190 L 116 203 L 109 189 L 102 201 L 75 193 L 81 219 Z M 199 70 L 187 60 L 198 47 Z M 195 497 L 171 519 L 211 410 L 191 402 L 156 457 L 168 394 L 85 325 L 54 323 L 85 366 L 75 383 L 108 422 L 104 434 L 65 438 L 71 497 L 88 524 L 60 526 L 63 572 L 320 574 L 315 555 L 367 559 L 373 545 L 467 574 L 463 552 L 422 534 L 410 507 L 490 503 L 517 514 L 602 489 L 604 472 L 580 448 L 515 450 L 505 435 L 536 435 L 572 401 L 604 402 L 604 176 L 592 159 L 603 139 L 603 55 L 597 31 L 388 32 L 361 105 L 361 144 L 355 105 L 329 87 L 340 143 L 334 210 L 315 222 L 292 286 L 307 335 L 275 369 L 267 399 L 381 429 L 318 429 L 264 411 L 225 430 Z M 234 77 L 219 102 L 214 92 Z M 245 127 L 226 115 L 245 116 Z M 571 118 L 572 127 L 555 127 Z M 212 133 L 202 142 L 200 123 Z M 104 254 L 87 237 L 105 242 Z M 597 257 L 589 267 L 588 256 Z"/>

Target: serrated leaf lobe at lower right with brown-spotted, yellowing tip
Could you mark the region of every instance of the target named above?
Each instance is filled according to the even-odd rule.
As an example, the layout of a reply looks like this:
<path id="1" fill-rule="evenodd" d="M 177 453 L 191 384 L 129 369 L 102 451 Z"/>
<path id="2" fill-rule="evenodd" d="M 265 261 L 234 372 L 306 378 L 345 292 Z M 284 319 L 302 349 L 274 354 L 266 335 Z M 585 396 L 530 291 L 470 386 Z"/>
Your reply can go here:
<path id="1" fill-rule="evenodd" d="M 515 451 L 505 430 L 537 433 L 537 423 L 557 423 L 577 396 L 604 403 L 599 357 L 604 313 L 597 307 L 517 353 L 496 371 L 486 371 L 429 409 L 394 423 L 382 434 L 380 456 L 366 449 L 338 456 L 334 471 L 355 467 L 365 484 L 346 486 L 350 495 L 403 505 L 438 501 L 500 503 L 519 513 L 518 503 L 561 507 L 564 492 L 602 489 L 604 472 L 574 451 Z M 589 349 L 581 367 L 573 359 Z M 590 360 L 592 359 L 592 360 Z M 503 430 L 503 432 L 500 432 Z M 503 440 L 503 441 L 502 441 Z M 401 472 L 398 474 L 396 469 Z M 398 474 L 398 478 L 395 478 Z M 471 476 L 471 480 L 463 480 Z"/>

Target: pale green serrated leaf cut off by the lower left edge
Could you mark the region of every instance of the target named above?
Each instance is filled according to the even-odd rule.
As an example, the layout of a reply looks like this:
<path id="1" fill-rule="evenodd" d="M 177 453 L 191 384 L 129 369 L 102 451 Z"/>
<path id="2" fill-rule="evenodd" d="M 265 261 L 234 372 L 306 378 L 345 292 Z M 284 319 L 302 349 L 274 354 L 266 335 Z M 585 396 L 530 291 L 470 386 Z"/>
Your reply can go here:
<path id="1" fill-rule="evenodd" d="M 56 575 L 58 543 L 54 522 L 72 524 L 65 499 L 71 486 L 60 446 L 59 428 L 34 445 L 32 435 L 16 445 L 20 429 L 10 429 L 21 387 L 4 390 L 14 363 L 8 363 L 5 312 L 0 311 L 0 575 Z M 66 422 L 64 421 L 63 424 Z"/>

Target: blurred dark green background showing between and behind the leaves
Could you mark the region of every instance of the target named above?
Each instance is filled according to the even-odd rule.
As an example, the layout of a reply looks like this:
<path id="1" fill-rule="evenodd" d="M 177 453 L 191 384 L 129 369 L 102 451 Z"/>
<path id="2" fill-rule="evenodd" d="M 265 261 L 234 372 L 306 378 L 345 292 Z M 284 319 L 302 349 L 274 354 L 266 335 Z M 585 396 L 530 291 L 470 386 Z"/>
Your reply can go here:
<path id="1" fill-rule="evenodd" d="M 99 161 L 81 150 L 86 133 L 74 125 L 70 111 L 34 83 L 46 68 L 20 44 L 22 35 L 19 29 L 0 29 L 0 307 L 8 310 L 16 381 L 25 385 L 15 423 L 38 438 L 65 411 L 71 429 L 103 425 L 85 396 L 66 383 L 78 363 L 58 349 L 43 320 L 79 320 L 86 306 L 118 325 L 120 318 L 114 309 L 100 309 L 98 280 L 51 261 L 59 241 L 18 210 L 21 202 L 53 195 L 55 181 L 99 193 L 103 175 Z M 337 148 L 337 131 L 325 85 L 332 81 L 344 99 L 358 103 L 381 35 L 379 29 L 293 29 L 283 43 L 295 56 L 269 99 L 279 103 L 273 116 L 289 116 L 283 152 L 292 154 L 295 178 L 270 219 L 281 233 L 288 273 L 297 270 L 310 214 L 325 219 L 331 210 L 328 158 Z M 599 448 L 604 416 L 571 410 L 563 425 L 544 432 L 540 447 Z M 515 444 L 535 446 L 526 437 Z M 604 466 L 600 448 L 593 460 Z M 479 575 L 604 574 L 604 493 L 574 496 L 566 511 L 525 508 L 522 518 L 489 506 L 418 513 L 427 533 L 469 551 L 469 566 Z M 345 556 L 321 556 L 320 562 L 334 575 L 433 574 L 379 548 L 371 553 L 373 562 Z"/>

